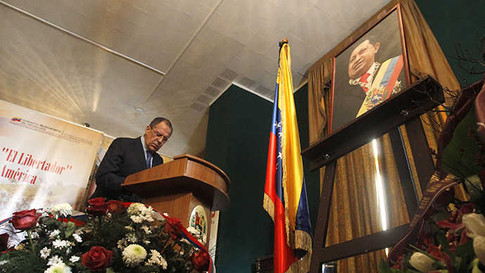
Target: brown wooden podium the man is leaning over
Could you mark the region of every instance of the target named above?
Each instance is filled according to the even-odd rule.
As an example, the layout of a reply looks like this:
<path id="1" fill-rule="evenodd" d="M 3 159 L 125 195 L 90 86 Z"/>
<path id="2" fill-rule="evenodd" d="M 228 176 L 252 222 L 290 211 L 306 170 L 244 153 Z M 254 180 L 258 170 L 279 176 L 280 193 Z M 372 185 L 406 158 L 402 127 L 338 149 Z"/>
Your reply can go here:
<path id="1" fill-rule="evenodd" d="M 201 205 L 207 215 L 207 242 L 211 212 L 229 207 L 227 195 L 231 182 L 212 163 L 193 155 L 179 155 L 173 161 L 131 174 L 122 186 L 143 198 L 146 205 L 189 226 L 190 214 Z"/>

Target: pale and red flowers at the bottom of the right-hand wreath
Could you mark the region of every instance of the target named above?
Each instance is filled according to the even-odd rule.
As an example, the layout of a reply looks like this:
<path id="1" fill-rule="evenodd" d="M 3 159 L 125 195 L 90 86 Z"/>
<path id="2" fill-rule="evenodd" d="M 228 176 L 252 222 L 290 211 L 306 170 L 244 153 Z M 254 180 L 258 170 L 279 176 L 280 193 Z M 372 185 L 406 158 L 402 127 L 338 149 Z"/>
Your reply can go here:
<path id="1" fill-rule="evenodd" d="M 439 220 L 444 213 L 432 215 L 412 250 L 392 267 L 381 260 L 380 272 L 485 272 L 485 217 L 472 211 L 474 205 L 465 203 L 445 220 Z"/>

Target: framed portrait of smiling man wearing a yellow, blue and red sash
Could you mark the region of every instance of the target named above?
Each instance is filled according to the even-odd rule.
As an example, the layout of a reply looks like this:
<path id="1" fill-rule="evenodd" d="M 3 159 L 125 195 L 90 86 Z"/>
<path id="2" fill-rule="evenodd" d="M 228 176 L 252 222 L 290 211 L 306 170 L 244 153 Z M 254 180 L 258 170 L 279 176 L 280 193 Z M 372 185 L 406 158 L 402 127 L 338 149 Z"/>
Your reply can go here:
<path id="1" fill-rule="evenodd" d="M 408 61 L 399 5 L 334 57 L 330 132 L 406 88 Z"/>

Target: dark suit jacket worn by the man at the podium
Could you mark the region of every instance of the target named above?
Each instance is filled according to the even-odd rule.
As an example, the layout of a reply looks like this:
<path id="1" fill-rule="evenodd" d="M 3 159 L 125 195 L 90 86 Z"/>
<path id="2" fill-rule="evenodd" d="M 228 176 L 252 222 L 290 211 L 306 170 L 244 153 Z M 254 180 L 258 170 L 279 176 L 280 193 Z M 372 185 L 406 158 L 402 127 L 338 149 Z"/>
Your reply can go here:
<path id="1" fill-rule="evenodd" d="M 152 167 L 162 163 L 162 157 L 153 153 Z M 96 191 L 91 198 L 105 197 L 107 200 L 122 198 L 128 202 L 141 202 L 139 196 L 123 189 L 121 184 L 130 174 L 146 169 L 145 153 L 139 137 L 115 139 L 98 167 Z"/>

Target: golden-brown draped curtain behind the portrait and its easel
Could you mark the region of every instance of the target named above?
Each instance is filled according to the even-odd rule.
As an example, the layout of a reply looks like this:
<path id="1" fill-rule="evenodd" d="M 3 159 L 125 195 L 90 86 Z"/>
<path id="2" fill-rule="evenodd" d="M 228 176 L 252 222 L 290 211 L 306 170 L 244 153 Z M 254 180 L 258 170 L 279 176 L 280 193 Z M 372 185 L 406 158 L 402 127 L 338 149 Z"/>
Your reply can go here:
<path id="1" fill-rule="evenodd" d="M 401 5 L 404 38 L 408 52 L 408 63 L 411 81 L 430 75 L 443 87 L 458 90 L 459 84 L 446 61 L 446 58 L 434 38 L 418 6 L 412 0 L 394 0 L 384 6 L 378 13 L 338 44 L 309 68 L 309 135 L 310 143 L 322 139 L 328 133 L 328 108 L 330 90 L 325 85 L 330 83 L 332 75 L 332 57 L 347 48 L 370 27 L 382 20 L 397 4 Z M 423 126 L 431 148 L 437 148 L 437 133 L 429 124 L 444 123 L 446 115 L 435 113 L 423 116 Z M 432 121 L 432 122 L 430 122 Z M 401 127 L 406 142 L 406 128 Z M 325 246 L 331 246 L 382 230 L 377 211 L 377 194 L 375 180 L 377 170 L 372 144 L 337 160 L 337 170 L 332 193 L 330 220 Z M 391 200 L 387 208 L 388 227 L 396 227 L 409 222 L 406 205 L 396 171 L 389 136 L 377 139 L 379 172 L 386 184 L 387 196 Z M 407 145 L 406 149 L 409 147 Z M 410 154 L 410 153 L 409 153 Z M 412 155 L 410 158 L 412 163 Z M 411 168 L 414 166 L 411 164 Z M 413 174 L 415 175 L 415 174 Z M 323 177 L 323 170 L 321 170 Z M 323 182 L 323 179 L 321 179 Z M 419 186 L 419 185 L 418 185 Z M 380 258 L 386 258 L 384 250 L 368 255 L 356 256 L 338 261 L 338 272 L 376 272 Z"/>

